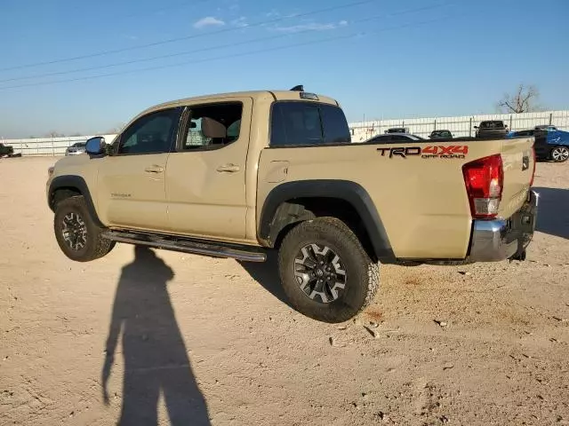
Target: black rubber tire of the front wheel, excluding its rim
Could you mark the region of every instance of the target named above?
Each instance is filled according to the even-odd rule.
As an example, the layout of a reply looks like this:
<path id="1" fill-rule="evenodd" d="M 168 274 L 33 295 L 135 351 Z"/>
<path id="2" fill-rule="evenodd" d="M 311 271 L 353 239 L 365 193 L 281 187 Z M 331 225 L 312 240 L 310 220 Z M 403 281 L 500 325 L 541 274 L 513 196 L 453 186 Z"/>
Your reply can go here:
<path id="1" fill-rule="evenodd" d="M 84 223 L 86 237 L 84 237 L 84 247 L 74 249 L 69 246 L 63 234 L 63 221 L 68 215 L 73 214 L 80 217 Z M 108 254 L 115 247 L 115 241 L 103 238 L 104 228 L 96 225 L 92 220 L 87 203 L 82 195 L 66 198 L 58 202 L 53 217 L 53 231 L 55 238 L 60 245 L 61 251 L 71 260 L 76 262 L 90 262 Z"/>

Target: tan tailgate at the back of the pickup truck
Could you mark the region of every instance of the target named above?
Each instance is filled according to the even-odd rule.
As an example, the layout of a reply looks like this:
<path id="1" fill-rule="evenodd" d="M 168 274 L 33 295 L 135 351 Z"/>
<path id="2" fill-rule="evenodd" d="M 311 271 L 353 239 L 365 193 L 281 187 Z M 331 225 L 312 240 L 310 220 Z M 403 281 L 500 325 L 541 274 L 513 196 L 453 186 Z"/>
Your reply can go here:
<path id="1" fill-rule="evenodd" d="M 509 138 L 502 141 L 501 159 L 504 165 L 504 187 L 499 216 L 511 217 L 524 204 L 533 177 L 534 138 Z"/>

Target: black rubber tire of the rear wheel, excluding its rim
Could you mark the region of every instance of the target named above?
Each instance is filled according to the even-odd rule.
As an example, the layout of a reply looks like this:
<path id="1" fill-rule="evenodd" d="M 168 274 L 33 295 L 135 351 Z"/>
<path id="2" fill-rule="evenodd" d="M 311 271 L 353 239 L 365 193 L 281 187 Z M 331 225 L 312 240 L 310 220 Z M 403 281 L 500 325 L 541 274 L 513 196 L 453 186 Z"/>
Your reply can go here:
<path id="1" fill-rule="evenodd" d="M 307 296 L 294 272 L 295 259 L 309 244 L 329 247 L 340 256 L 346 272 L 346 285 L 331 303 Z M 284 293 L 293 307 L 312 319 L 337 323 L 351 319 L 373 302 L 379 284 L 379 266 L 365 252 L 347 225 L 335 217 L 318 217 L 295 226 L 278 252 L 278 269 Z"/>

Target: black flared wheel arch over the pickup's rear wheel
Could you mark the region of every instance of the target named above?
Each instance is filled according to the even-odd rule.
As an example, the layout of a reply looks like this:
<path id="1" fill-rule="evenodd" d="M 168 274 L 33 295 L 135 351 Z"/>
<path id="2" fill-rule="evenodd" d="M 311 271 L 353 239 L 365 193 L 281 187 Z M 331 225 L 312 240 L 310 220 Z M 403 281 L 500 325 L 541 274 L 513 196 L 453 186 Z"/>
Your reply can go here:
<path id="1" fill-rule="evenodd" d="M 347 180 L 303 180 L 277 185 L 261 209 L 257 229 L 260 243 L 276 248 L 293 225 L 321 216 L 338 217 L 351 222 L 350 227 L 361 224 L 355 232 L 370 255 L 383 263 L 396 260 L 369 193 L 362 185 Z"/>

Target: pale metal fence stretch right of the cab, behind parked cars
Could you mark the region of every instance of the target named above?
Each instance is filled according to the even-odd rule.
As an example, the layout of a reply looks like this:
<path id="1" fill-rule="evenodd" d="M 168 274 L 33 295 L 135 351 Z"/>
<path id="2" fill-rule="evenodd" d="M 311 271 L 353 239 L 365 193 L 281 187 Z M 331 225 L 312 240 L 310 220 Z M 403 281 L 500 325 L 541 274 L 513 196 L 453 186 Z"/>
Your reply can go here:
<path id="1" fill-rule="evenodd" d="M 361 142 L 384 133 L 391 127 L 405 127 L 409 133 L 428 138 L 433 130 L 450 130 L 455 138 L 472 137 L 474 126 L 484 120 L 502 120 L 509 130 L 533 129 L 541 124 L 557 126 L 559 130 L 569 130 L 569 111 L 544 111 L 524 114 L 479 114 L 457 117 L 407 118 L 397 120 L 372 120 L 351 122 L 352 141 Z"/>

